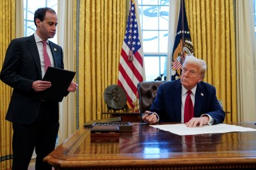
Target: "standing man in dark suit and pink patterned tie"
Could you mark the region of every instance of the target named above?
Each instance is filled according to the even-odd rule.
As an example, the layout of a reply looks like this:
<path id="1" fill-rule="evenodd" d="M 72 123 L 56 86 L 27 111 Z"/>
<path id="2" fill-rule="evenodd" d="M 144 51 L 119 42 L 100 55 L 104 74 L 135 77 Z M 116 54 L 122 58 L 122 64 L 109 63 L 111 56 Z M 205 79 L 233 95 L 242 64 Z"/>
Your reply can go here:
<path id="1" fill-rule="evenodd" d="M 13 123 L 13 170 L 28 169 L 34 149 L 35 169 L 52 169 L 43 158 L 55 149 L 59 130 L 59 102 L 35 98 L 51 87 L 51 82 L 42 81 L 47 67 L 64 68 L 61 46 L 48 40 L 55 36 L 58 19 L 53 9 L 45 7 L 35 11 L 34 22 L 34 35 L 11 41 L 0 73 L 13 88 L 5 118 Z M 71 82 L 67 94 L 76 89 Z"/>

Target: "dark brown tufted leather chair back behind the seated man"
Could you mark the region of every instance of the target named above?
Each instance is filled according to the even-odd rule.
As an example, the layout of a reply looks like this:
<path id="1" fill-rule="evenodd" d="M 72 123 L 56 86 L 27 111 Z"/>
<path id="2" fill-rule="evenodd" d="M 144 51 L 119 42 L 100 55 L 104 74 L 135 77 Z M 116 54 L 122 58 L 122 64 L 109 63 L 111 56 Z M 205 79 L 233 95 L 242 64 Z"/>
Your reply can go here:
<path id="1" fill-rule="evenodd" d="M 157 89 L 160 84 L 167 81 L 149 81 L 140 82 L 137 86 L 139 95 L 139 112 L 142 114 L 149 110 L 152 102 L 157 96 Z"/>

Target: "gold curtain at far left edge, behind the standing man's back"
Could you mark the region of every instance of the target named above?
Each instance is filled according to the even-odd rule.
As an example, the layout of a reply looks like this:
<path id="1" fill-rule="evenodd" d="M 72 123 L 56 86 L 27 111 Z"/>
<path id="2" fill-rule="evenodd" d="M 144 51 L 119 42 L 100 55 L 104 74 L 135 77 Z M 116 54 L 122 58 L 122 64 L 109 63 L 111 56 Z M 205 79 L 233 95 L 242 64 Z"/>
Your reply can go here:
<path id="1" fill-rule="evenodd" d="M 5 52 L 11 39 L 15 38 L 15 0 L 2 0 L 0 3 L 0 70 Z M 0 81 L 0 169 L 11 168 L 11 123 L 5 120 L 11 88 Z"/>

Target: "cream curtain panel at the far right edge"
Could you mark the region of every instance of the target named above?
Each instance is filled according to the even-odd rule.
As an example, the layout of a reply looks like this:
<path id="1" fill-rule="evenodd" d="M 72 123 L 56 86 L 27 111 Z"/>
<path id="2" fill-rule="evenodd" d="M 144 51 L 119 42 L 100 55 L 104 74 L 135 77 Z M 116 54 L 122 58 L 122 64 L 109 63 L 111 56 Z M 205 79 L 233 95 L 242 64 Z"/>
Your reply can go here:
<path id="1" fill-rule="evenodd" d="M 235 4 L 238 121 L 251 122 L 256 120 L 254 1 L 236 0 Z M 231 76 L 233 77 L 233 74 Z"/>

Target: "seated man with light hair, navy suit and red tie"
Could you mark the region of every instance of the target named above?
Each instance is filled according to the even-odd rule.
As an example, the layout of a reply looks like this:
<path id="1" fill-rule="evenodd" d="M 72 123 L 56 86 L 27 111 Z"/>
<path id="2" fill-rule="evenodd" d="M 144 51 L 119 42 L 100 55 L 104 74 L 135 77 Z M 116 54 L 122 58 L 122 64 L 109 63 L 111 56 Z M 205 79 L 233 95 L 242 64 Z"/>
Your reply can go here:
<path id="1" fill-rule="evenodd" d="M 187 127 L 222 123 L 225 112 L 217 100 L 215 87 L 203 82 L 206 68 L 204 60 L 186 56 L 181 79 L 159 86 L 157 96 L 142 120 L 147 124 L 181 122 Z"/>

